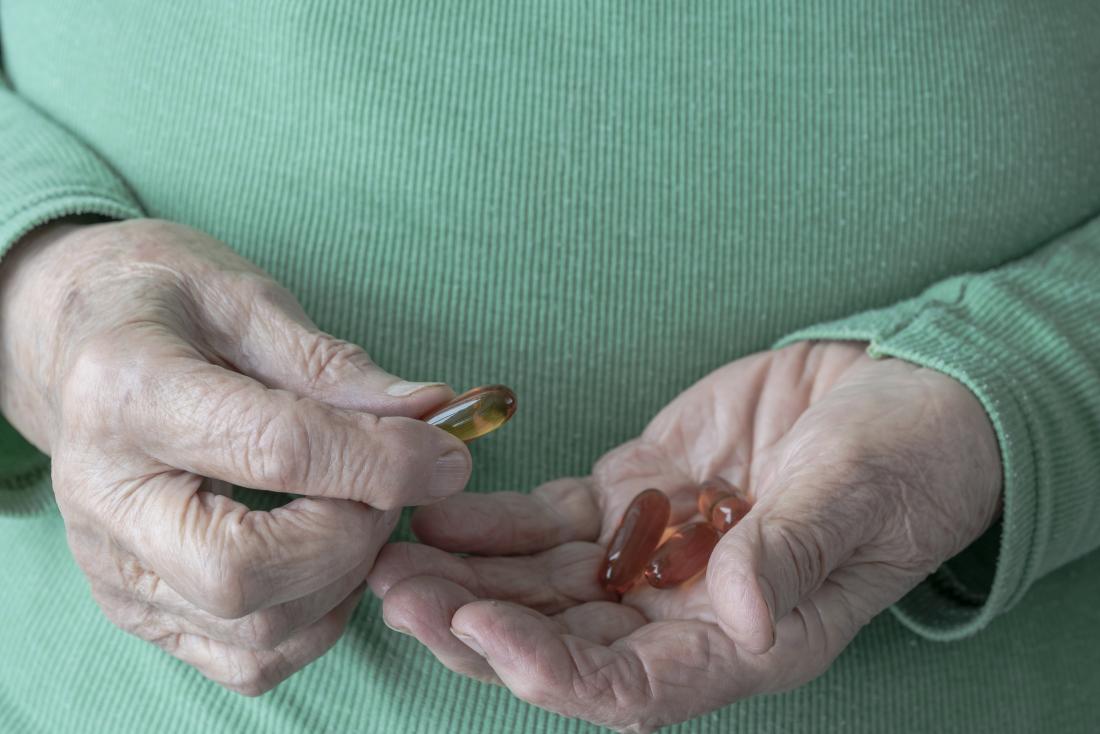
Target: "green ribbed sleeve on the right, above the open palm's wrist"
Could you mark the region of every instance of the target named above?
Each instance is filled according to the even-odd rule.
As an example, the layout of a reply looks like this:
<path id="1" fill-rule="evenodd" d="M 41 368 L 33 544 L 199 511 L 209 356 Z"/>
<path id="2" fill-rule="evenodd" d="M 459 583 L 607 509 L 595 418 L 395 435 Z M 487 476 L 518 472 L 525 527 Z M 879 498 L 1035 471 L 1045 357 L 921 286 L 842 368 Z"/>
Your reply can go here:
<path id="1" fill-rule="evenodd" d="M 868 341 L 955 377 L 997 431 L 1001 519 L 902 599 L 934 639 L 974 634 L 1040 577 L 1100 547 L 1100 218 L 1025 259 L 784 337 Z"/>

